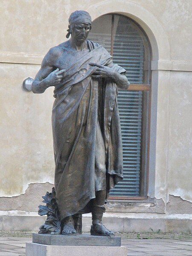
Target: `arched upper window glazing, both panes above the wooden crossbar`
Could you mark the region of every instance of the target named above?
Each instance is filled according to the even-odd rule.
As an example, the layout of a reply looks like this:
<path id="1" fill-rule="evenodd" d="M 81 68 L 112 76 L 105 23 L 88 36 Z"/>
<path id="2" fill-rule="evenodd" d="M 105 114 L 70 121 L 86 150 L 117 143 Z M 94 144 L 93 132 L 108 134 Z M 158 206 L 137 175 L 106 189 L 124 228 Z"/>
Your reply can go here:
<path id="1" fill-rule="evenodd" d="M 150 83 L 150 52 L 146 36 L 131 19 L 114 15 L 113 60 L 127 70 L 131 83 Z M 93 21 L 88 39 L 102 44 L 111 53 L 112 15 Z"/>

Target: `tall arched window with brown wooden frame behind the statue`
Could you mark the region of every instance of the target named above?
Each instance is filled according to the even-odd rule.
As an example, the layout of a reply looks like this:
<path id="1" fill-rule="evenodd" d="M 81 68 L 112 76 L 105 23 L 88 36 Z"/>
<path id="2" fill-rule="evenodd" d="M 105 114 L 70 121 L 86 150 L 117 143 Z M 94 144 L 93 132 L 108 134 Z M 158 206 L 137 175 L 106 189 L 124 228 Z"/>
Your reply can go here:
<path id="1" fill-rule="evenodd" d="M 113 62 L 127 70 L 131 85 L 119 90 L 124 180 L 111 190 L 111 198 L 146 198 L 148 186 L 150 45 L 140 26 L 130 18 L 103 15 L 93 21 L 89 39 L 102 44 Z"/>

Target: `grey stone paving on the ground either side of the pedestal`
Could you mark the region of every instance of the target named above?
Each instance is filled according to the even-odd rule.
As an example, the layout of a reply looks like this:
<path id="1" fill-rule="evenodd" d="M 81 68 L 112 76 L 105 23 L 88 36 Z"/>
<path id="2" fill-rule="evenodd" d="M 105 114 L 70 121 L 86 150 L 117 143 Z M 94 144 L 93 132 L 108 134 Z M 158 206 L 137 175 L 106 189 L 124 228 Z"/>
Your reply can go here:
<path id="1" fill-rule="evenodd" d="M 28 237 L 0 237 L 0 256 L 25 256 L 25 243 L 29 241 L 32 239 Z M 128 256 L 192 256 L 191 239 L 122 238 L 122 246 L 128 248 Z"/>

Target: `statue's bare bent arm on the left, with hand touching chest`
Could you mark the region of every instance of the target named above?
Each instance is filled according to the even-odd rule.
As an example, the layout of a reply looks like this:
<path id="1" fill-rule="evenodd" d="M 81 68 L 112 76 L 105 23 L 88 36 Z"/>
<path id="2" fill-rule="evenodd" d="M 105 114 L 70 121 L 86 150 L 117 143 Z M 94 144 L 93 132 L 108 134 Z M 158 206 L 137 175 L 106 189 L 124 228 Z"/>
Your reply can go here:
<path id="1" fill-rule="evenodd" d="M 32 83 L 33 93 L 44 93 L 48 87 L 59 84 L 64 75 L 65 70 L 59 70 L 54 66 L 55 58 L 57 58 L 57 49 L 54 48 L 49 50 L 42 61 L 41 69 Z"/>

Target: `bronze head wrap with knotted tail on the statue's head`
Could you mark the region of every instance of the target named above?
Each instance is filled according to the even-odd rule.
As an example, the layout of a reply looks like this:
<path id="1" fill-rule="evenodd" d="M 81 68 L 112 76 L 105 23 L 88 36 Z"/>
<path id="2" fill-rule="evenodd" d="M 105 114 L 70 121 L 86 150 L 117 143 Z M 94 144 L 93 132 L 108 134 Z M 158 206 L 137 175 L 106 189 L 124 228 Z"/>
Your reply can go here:
<path id="1" fill-rule="evenodd" d="M 69 26 L 76 23 L 89 23 L 91 24 L 91 17 L 90 14 L 86 11 L 75 11 L 72 12 L 69 17 Z M 67 29 L 68 33 L 66 38 L 69 38 L 71 32 L 70 29 Z"/>

